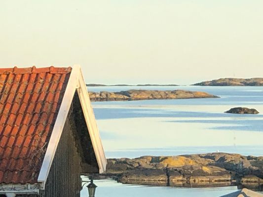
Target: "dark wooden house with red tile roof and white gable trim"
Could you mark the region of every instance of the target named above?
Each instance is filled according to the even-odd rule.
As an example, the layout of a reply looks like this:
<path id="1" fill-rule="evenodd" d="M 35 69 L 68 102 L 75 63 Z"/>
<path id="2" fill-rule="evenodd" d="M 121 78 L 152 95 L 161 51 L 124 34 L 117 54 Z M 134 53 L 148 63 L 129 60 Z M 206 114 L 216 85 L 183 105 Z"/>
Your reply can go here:
<path id="1" fill-rule="evenodd" d="M 0 68 L 0 197 L 79 197 L 106 164 L 80 66 Z"/>

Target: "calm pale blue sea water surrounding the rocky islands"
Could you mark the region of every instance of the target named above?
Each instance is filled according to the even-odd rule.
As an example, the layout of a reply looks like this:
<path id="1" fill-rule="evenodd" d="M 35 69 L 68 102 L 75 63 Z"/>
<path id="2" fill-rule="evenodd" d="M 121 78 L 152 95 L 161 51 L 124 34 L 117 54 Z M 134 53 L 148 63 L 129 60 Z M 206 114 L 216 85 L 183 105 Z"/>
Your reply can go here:
<path id="1" fill-rule="evenodd" d="M 263 156 L 263 87 L 106 86 L 88 91 L 189 90 L 216 99 L 92 102 L 107 158 L 226 152 Z M 259 114 L 227 114 L 232 107 Z M 96 197 L 220 197 L 237 187 L 172 188 L 95 181 Z M 81 192 L 87 196 L 87 190 Z"/>

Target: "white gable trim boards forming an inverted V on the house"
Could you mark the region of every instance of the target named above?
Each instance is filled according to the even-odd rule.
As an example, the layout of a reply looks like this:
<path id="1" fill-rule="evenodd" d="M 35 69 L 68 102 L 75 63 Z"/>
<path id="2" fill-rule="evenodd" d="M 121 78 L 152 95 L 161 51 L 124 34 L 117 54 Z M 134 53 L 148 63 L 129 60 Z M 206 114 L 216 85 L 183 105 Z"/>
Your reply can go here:
<path id="1" fill-rule="evenodd" d="M 99 165 L 99 172 L 105 172 L 107 160 L 104 154 L 101 138 L 99 135 L 99 131 L 97 128 L 95 116 L 93 109 L 91 107 L 90 99 L 88 96 L 87 88 L 85 85 L 85 81 L 81 72 L 80 66 L 73 66 L 68 85 L 66 87 L 66 91 L 64 97 L 62 99 L 62 103 L 58 112 L 58 116 L 54 125 L 54 129 L 52 131 L 47 150 L 45 153 L 45 157 L 40 169 L 40 173 L 38 175 L 38 183 L 41 183 L 41 189 L 44 189 L 45 183 L 48 177 L 48 173 L 51 168 L 51 164 L 53 162 L 56 149 L 70 110 L 70 106 L 77 90 L 79 100 L 81 103 L 81 107 L 83 110 L 83 114 L 85 117 L 85 121 L 87 124 L 87 128 L 89 131 L 89 135 L 92 141 L 92 145 L 94 148 L 95 156 L 97 159 L 97 163 Z"/>

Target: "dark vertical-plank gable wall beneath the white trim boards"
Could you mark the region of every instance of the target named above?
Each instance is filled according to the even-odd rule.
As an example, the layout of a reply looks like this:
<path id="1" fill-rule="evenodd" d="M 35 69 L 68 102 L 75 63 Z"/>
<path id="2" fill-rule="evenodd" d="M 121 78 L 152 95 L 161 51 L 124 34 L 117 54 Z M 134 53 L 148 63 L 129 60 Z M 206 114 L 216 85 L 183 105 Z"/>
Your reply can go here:
<path id="1" fill-rule="evenodd" d="M 80 173 L 80 156 L 68 117 L 51 165 L 45 190 L 40 192 L 40 197 L 79 197 Z"/>

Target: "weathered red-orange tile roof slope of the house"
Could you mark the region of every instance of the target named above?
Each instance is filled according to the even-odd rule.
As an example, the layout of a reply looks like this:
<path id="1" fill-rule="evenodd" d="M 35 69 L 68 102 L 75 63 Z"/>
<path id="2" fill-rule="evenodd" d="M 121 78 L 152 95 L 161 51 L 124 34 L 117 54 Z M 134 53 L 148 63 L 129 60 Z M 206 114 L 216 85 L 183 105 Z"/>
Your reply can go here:
<path id="1" fill-rule="evenodd" d="M 0 68 L 0 184 L 37 183 L 72 68 Z"/>

